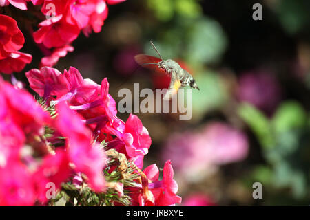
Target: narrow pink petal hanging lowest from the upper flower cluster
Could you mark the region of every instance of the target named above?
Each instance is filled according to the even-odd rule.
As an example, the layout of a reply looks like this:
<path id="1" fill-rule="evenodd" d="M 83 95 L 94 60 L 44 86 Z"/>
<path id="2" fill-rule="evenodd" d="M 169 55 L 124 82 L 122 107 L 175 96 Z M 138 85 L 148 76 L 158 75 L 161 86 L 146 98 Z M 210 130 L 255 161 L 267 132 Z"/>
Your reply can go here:
<path id="1" fill-rule="evenodd" d="M 72 52 L 74 47 L 65 45 L 63 47 L 55 48 L 52 53 L 41 59 L 40 67 L 53 67 L 59 61 L 59 58 L 65 57 L 68 52 Z"/>

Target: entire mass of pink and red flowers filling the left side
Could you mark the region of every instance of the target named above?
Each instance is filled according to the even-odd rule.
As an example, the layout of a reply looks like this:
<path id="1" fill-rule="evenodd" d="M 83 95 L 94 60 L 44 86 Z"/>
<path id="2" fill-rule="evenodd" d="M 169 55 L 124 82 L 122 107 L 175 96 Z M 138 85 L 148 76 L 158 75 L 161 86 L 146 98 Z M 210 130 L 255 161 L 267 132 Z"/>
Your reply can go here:
<path id="1" fill-rule="evenodd" d="M 80 206 L 180 203 L 169 160 L 161 180 L 155 164 L 142 171 L 152 140 L 136 115 L 117 117 L 107 78 L 99 85 L 74 67 L 52 68 L 74 50 L 80 32 L 100 32 L 107 4 L 121 1 L 0 1 L 46 18 L 34 32 L 23 27 L 45 54 L 39 69 L 25 73 L 39 98 L 14 76 L 13 85 L 0 76 L 0 206 L 54 205 L 59 198 Z M 0 72 L 21 72 L 32 61 L 19 52 L 24 43 L 17 21 L 1 14 Z"/>

